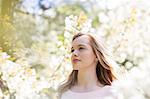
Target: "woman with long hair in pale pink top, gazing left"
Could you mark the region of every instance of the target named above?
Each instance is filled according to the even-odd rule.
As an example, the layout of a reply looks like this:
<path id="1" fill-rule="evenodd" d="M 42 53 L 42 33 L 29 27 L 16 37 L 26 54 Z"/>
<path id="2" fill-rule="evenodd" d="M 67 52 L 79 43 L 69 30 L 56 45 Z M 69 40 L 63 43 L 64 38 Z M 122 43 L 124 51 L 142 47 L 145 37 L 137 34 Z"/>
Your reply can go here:
<path id="1" fill-rule="evenodd" d="M 72 39 L 73 71 L 60 88 L 60 99 L 117 99 L 111 83 L 116 77 L 100 42 L 90 34 Z"/>

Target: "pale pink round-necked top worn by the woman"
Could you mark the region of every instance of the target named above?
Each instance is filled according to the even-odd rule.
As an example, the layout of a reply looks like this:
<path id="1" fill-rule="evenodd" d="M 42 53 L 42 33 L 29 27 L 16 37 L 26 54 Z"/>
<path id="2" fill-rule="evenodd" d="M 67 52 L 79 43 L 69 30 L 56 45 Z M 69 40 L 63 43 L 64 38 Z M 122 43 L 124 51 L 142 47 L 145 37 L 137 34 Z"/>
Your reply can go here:
<path id="1" fill-rule="evenodd" d="M 62 94 L 61 99 L 120 99 L 117 91 L 111 86 L 105 86 L 90 92 L 73 92 L 68 90 Z"/>

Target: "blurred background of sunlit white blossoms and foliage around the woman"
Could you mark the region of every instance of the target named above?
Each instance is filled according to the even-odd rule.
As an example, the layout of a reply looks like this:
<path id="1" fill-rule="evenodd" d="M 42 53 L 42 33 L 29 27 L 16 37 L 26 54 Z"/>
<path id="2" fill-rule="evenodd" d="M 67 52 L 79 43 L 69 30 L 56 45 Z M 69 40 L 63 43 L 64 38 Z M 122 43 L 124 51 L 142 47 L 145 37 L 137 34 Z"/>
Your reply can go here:
<path id="1" fill-rule="evenodd" d="M 0 99 L 57 99 L 77 18 L 112 53 L 123 99 L 150 99 L 148 0 L 0 0 Z"/>

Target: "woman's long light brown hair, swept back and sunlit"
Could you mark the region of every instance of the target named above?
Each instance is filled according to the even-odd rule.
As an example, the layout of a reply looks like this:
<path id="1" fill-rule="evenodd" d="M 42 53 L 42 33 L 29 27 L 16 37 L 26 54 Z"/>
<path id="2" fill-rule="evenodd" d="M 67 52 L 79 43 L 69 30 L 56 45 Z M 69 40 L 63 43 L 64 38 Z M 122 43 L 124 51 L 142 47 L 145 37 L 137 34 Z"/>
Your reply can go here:
<path id="1" fill-rule="evenodd" d="M 105 51 L 104 45 L 102 44 L 102 42 L 98 42 L 98 40 L 94 36 L 83 33 L 78 33 L 74 35 L 72 42 L 82 35 L 87 35 L 89 37 L 91 47 L 96 57 L 98 58 L 98 63 L 96 66 L 96 75 L 98 81 L 103 85 L 111 85 L 112 81 L 116 79 L 116 77 L 114 75 L 112 65 L 107 60 L 108 54 Z M 67 82 L 59 87 L 59 92 L 63 93 L 68 89 L 70 89 L 75 84 L 77 84 L 77 75 L 78 70 L 73 70 L 69 75 Z"/>

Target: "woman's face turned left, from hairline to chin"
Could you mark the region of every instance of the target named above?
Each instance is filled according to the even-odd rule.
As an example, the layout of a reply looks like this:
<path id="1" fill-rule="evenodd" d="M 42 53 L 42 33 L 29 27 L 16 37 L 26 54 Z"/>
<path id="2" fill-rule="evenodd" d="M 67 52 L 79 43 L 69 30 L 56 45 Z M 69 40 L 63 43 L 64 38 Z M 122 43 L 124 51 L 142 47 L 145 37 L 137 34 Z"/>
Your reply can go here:
<path id="1" fill-rule="evenodd" d="M 96 56 L 90 45 L 89 37 L 82 35 L 72 42 L 71 62 L 74 70 L 96 66 Z"/>

